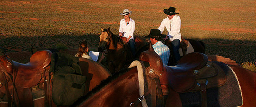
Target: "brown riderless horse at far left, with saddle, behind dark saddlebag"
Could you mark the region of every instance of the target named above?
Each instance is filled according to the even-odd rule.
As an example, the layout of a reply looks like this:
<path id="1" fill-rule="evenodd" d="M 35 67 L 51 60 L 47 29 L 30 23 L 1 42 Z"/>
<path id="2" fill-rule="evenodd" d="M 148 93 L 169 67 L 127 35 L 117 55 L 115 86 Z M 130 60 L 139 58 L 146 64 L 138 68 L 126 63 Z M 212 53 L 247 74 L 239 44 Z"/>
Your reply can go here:
<path id="1" fill-rule="evenodd" d="M 52 52 L 49 50 L 37 51 L 30 57 L 28 63 L 23 64 L 11 60 L 1 48 L 1 106 L 56 106 L 51 98 L 52 82 L 50 81 L 54 76 L 50 72 L 51 56 Z M 102 80 L 112 76 L 97 62 L 85 58 L 77 59 L 79 64 L 86 63 L 86 66 L 81 66 L 81 71 L 83 76 L 90 74 L 90 79 L 86 78 L 89 91 L 99 85 Z M 33 89 L 37 86 L 43 91 L 43 96 L 33 99 Z"/>

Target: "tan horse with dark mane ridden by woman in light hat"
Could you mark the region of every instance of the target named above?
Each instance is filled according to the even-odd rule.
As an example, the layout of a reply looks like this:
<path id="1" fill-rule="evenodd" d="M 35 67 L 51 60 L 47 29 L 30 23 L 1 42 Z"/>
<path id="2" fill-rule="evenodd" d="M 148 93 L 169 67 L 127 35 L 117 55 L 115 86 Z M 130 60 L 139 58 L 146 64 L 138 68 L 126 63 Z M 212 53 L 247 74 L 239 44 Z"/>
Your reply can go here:
<path id="1" fill-rule="evenodd" d="M 135 38 L 135 43 L 137 50 L 140 50 L 146 45 L 146 42 L 139 37 Z M 124 68 L 125 63 L 132 62 L 136 57 L 132 56 L 127 46 L 128 45 L 121 38 L 118 38 L 110 31 L 110 28 L 103 29 L 101 27 L 98 51 L 102 52 L 105 48 L 107 49 L 108 69 L 112 74 Z"/>

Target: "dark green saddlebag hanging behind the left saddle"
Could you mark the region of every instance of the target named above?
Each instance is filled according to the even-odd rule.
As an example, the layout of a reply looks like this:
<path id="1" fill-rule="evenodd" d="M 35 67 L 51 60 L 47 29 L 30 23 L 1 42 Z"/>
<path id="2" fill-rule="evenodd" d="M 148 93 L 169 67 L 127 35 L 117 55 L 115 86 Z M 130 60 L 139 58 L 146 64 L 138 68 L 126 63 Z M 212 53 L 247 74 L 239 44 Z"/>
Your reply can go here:
<path id="1" fill-rule="evenodd" d="M 69 54 L 52 55 L 52 100 L 57 106 L 70 106 L 85 94 L 86 76 L 82 75 L 78 62 L 77 58 Z"/>

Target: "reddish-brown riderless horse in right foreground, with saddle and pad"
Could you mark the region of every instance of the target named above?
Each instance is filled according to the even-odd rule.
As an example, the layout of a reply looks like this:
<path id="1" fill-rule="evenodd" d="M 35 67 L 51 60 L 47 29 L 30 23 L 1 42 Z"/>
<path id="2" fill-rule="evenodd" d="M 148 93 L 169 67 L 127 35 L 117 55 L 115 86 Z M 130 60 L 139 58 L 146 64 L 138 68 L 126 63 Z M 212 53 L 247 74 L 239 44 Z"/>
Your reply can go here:
<path id="1" fill-rule="evenodd" d="M 158 57 L 158 58 L 157 58 Z M 161 59 L 158 55 L 154 54 L 154 51 L 145 51 L 141 54 L 140 57 L 141 61 L 134 61 L 131 63 L 129 69 L 120 71 L 119 75 L 114 75 L 111 81 L 107 80 L 103 83 L 108 83 L 107 85 L 100 85 L 98 88 L 98 92 L 89 92 L 86 96 L 83 96 L 81 99 L 77 100 L 77 102 L 74 103 L 72 106 L 83 106 L 83 107 L 92 107 L 92 106 L 101 106 L 101 107 L 111 107 L 111 106 L 119 106 L 119 107 L 127 107 L 127 106 L 182 106 L 183 102 L 181 101 L 181 96 L 183 93 L 177 93 L 177 92 L 186 92 L 188 90 L 193 90 L 193 88 L 199 88 L 199 95 L 200 90 L 202 93 L 202 102 L 204 102 L 204 93 L 206 95 L 207 90 L 207 106 L 216 106 L 216 103 L 218 102 L 209 102 L 209 96 L 218 94 L 215 99 L 224 99 L 223 105 L 218 106 L 256 106 L 255 102 L 255 72 L 249 71 L 247 69 L 244 69 L 240 66 L 235 65 L 226 65 L 222 62 L 207 62 L 208 58 L 206 55 L 201 53 L 190 53 L 188 55 L 185 55 L 180 59 L 180 61 L 177 63 L 175 67 L 163 65 L 161 63 Z M 212 60 L 213 61 L 213 60 Z M 144 64 L 143 64 L 144 63 Z M 207 64 L 206 64 L 207 63 Z M 218 63 L 218 64 L 216 64 Z M 220 66 L 222 65 L 223 66 Z M 145 65 L 149 65 L 148 67 Z M 213 73 L 207 72 L 210 69 L 211 72 L 216 72 L 217 75 L 213 76 L 213 78 L 216 78 L 216 80 L 211 81 L 212 78 L 206 77 L 207 75 L 210 76 Z M 221 68 L 221 69 L 219 69 Z M 196 70 L 198 69 L 198 70 Z M 203 71 L 206 72 L 204 74 Z M 212 69 L 215 69 L 212 71 Z M 225 71 L 227 70 L 227 72 Z M 142 72 L 140 72 L 142 71 Z M 162 71 L 162 72 L 161 72 Z M 222 71 L 222 72 L 221 72 Z M 229 75 L 233 75 L 236 78 L 236 81 L 238 80 L 238 83 L 236 83 L 238 86 L 237 88 L 232 88 L 234 86 L 231 85 L 230 88 L 226 88 L 224 86 L 227 86 L 226 84 L 231 84 L 232 80 L 228 78 L 228 75 L 225 75 L 225 73 L 230 73 Z M 210 74 L 210 75 L 209 75 Z M 219 75 L 221 74 L 221 75 Z M 196 85 L 197 82 L 199 82 L 198 76 L 204 75 L 205 77 L 200 78 L 208 78 L 209 81 L 207 83 L 199 83 L 198 86 Z M 215 74 L 214 74 L 215 75 Z M 147 79 L 144 79 L 145 76 Z M 154 78 L 155 82 L 152 82 L 153 79 L 148 78 Z M 159 81 L 157 79 L 159 78 Z M 196 81 L 195 81 L 196 79 Z M 167 80 L 167 81 L 164 81 Z M 146 82 L 145 82 L 146 81 Z M 152 82 L 150 85 L 150 81 Z M 164 87 L 166 84 L 169 85 L 169 91 L 168 93 L 164 92 Z M 220 86 L 214 86 L 217 84 L 221 84 Z M 161 84 L 161 87 L 158 87 Z M 207 85 L 208 84 L 208 85 Z M 207 89 L 204 87 L 206 86 Z M 211 89 L 208 89 L 209 87 L 224 87 L 223 92 L 215 92 L 211 93 Z M 142 88 L 140 88 L 142 87 Z M 156 88 L 154 90 L 152 87 Z M 201 87 L 201 89 L 200 89 Z M 151 89 L 150 89 L 151 88 Z M 161 89 L 162 88 L 162 89 Z M 146 91 L 148 89 L 148 91 Z M 216 88 L 215 88 L 216 89 Z M 241 92 L 240 90 L 241 89 Z M 151 90 L 151 91 L 150 91 Z M 162 91 L 162 93 L 161 93 Z M 236 92 L 234 92 L 236 91 Z M 156 93 L 156 94 L 154 94 Z M 237 94 L 238 93 L 238 94 Z M 223 95 L 222 95 L 223 94 Z M 237 94 L 239 96 L 239 101 L 236 101 L 236 98 L 233 98 L 233 94 Z M 150 98 L 151 95 L 151 98 Z M 164 95 L 164 99 L 163 96 Z M 222 96 L 221 96 L 222 95 Z M 229 96 L 231 98 L 229 98 Z M 147 98 L 148 97 L 148 98 Z M 194 100 L 195 96 L 192 96 L 189 99 Z M 161 99 L 162 98 L 162 99 Z M 199 97 L 200 98 L 200 97 Z M 150 103 L 150 100 L 151 103 Z M 155 103 L 153 103 L 154 101 Z M 158 101 L 164 102 L 161 103 Z M 196 102 L 200 103 L 200 100 L 195 99 Z M 232 100 L 235 100 L 235 102 L 231 102 Z M 157 101 L 157 102 L 156 102 Z M 186 100 L 185 100 L 186 101 Z M 231 102 L 231 103 L 230 103 Z M 239 103 L 236 103 L 239 102 Z M 160 104 L 160 105 L 159 105 Z M 189 103 L 189 104 L 192 104 Z M 200 106 L 199 104 L 198 106 Z M 185 106 L 185 105 L 183 105 Z M 195 106 L 195 105 L 187 105 L 187 106 Z M 201 106 L 206 106 L 206 103 L 202 103 Z"/>

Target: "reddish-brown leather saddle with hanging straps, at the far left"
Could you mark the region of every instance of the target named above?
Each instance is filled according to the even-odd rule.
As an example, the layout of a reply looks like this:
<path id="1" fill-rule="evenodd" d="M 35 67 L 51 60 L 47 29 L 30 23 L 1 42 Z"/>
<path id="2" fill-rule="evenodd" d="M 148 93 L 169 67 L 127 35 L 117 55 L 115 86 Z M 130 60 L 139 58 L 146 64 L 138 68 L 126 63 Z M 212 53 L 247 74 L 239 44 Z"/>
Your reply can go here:
<path id="1" fill-rule="evenodd" d="M 30 61 L 26 64 L 11 60 L 8 55 L 1 56 L 1 77 L 5 77 L 5 79 L 1 79 L 2 82 L 5 82 L 1 88 L 5 87 L 8 105 L 11 103 L 12 94 L 16 106 L 33 106 L 30 87 L 44 83 L 46 76 L 49 76 L 49 74 L 45 74 L 50 69 L 51 54 L 52 52 L 48 50 L 38 51 L 30 57 Z M 8 89 L 8 86 L 11 85 L 14 90 L 12 93 Z M 25 99 L 22 98 L 23 93 L 27 94 Z"/>

